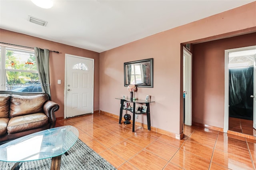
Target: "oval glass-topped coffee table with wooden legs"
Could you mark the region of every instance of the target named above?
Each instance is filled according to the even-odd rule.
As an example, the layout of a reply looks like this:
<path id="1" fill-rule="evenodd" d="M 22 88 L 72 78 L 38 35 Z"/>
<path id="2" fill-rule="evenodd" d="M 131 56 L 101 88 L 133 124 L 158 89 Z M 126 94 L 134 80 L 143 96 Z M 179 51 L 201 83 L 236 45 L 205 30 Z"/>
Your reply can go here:
<path id="1" fill-rule="evenodd" d="M 51 170 L 60 170 L 61 155 L 78 139 L 75 127 L 63 126 L 28 134 L 0 145 L 0 160 L 16 162 L 12 170 L 19 169 L 22 162 L 52 158 Z"/>

